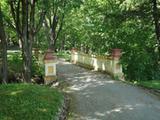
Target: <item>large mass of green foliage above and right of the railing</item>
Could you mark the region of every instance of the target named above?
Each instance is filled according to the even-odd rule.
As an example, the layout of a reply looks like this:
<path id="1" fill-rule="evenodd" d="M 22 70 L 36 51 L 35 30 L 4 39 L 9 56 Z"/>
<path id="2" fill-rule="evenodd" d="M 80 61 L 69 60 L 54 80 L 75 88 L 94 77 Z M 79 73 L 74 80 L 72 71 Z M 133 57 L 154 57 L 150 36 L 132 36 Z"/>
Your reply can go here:
<path id="1" fill-rule="evenodd" d="M 65 19 L 66 49 L 110 53 L 121 48 L 127 80 L 160 79 L 152 6 L 148 0 L 86 0 Z"/>

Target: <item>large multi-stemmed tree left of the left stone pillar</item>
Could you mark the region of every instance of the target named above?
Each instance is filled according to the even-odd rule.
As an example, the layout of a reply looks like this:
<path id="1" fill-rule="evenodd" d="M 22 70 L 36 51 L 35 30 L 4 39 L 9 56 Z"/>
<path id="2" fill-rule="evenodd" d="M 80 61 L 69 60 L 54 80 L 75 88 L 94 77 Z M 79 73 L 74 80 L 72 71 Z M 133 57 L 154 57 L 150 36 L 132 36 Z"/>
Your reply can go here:
<path id="1" fill-rule="evenodd" d="M 43 0 L 42 0 L 43 1 Z M 45 16 L 44 10 L 41 11 L 41 17 L 35 25 L 35 10 L 37 0 L 11 0 L 9 1 L 15 30 L 22 43 L 23 57 L 23 79 L 24 82 L 31 82 L 32 67 L 32 45 L 36 33 L 40 30 Z M 11 24 L 11 23 L 10 23 Z"/>

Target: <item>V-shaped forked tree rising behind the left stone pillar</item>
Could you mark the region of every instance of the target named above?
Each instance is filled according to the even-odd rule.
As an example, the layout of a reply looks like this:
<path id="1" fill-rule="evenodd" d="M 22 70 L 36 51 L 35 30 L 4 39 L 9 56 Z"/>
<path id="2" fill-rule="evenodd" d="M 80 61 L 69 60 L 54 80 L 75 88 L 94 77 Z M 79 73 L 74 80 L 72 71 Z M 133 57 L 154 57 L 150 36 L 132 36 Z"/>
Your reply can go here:
<path id="1" fill-rule="evenodd" d="M 55 50 L 58 36 L 62 30 L 65 15 L 65 0 L 49 0 L 47 14 L 45 17 L 45 26 L 49 30 L 49 48 Z"/>

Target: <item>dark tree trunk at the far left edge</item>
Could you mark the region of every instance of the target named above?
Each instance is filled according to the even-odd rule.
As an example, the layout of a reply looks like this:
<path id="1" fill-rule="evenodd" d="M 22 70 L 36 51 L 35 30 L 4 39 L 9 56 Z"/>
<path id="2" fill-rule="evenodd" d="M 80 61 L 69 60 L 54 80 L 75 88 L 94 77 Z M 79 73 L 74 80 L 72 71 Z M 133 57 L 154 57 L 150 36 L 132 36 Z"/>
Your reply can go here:
<path id="1" fill-rule="evenodd" d="M 0 6 L 0 42 L 1 42 L 1 59 L 2 65 L 0 72 L 2 72 L 2 83 L 7 83 L 7 75 L 8 75 L 8 70 L 7 70 L 7 39 L 5 36 L 5 30 L 4 30 L 4 25 L 3 25 L 3 17 L 2 17 L 2 11 L 1 11 L 1 6 Z"/>

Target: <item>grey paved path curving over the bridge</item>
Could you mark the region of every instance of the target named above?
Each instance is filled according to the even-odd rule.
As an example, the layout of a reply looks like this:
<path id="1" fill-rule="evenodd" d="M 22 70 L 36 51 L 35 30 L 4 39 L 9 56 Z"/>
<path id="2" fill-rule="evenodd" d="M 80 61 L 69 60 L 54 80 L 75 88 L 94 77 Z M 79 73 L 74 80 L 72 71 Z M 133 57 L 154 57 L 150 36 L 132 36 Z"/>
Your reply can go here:
<path id="1" fill-rule="evenodd" d="M 70 84 L 69 120 L 160 120 L 160 99 L 148 91 L 67 62 L 58 75 Z"/>

